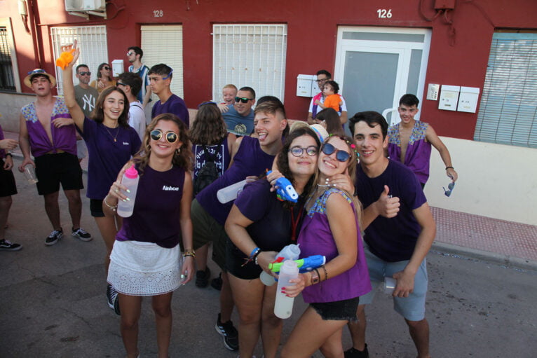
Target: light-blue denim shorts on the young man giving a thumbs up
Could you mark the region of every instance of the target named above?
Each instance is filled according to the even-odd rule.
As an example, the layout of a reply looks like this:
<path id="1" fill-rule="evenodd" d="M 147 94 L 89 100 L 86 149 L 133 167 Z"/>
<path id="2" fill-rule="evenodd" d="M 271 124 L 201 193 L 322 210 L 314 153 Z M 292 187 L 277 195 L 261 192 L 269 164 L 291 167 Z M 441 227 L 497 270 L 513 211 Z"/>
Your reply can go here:
<path id="1" fill-rule="evenodd" d="M 372 254 L 367 245 L 364 245 L 364 252 L 373 289 L 360 298 L 360 305 L 369 305 L 373 301 L 379 284 L 383 284 L 384 277 L 392 277 L 394 273 L 404 270 L 409 261 L 383 261 L 378 256 Z M 412 291 L 412 294 L 409 294 L 408 297 L 393 298 L 393 308 L 395 311 L 409 321 L 421 321 L 421 319 L 425 318 L 427 283 L 427 265 L 426 260 L 423 259 L 418 272 L 414 276 L 414 291 Z"/>

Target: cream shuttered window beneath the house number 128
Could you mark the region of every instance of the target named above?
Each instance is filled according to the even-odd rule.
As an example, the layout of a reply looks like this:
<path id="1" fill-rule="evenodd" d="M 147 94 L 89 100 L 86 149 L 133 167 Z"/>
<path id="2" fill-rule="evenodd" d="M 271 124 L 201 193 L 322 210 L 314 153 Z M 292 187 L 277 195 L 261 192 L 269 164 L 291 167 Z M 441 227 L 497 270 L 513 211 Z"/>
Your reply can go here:
<path id="1" fill-rule="evenodd" d="M 128 46 L 125 46 L 125 51 Z M 170 90 L 184 98 L 183 91 L 183 27 L 182 25 L 142 26 L 142 63 L 151 68 L 155 64 L 167 64 L 173 69 Z M 151 95 L 153 100 L 158 99 Z"/>

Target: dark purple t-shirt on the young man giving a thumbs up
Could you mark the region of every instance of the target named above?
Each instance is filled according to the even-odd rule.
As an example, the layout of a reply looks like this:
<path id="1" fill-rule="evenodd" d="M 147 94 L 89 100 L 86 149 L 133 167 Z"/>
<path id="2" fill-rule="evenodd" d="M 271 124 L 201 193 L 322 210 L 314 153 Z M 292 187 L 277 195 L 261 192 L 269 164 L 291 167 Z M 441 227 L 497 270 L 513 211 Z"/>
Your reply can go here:
<path id="1" fill-rule="evenodd" d="M 400 199 L 400 210 L 390 219 L 377 216 L 365 229 L 364 240 L 371 252 L 384 261 L 409 260 L 421 233 L 412 210 L 421 207 L 427 199 L 412 170 L 402 163 L 390 160 L 386 170 L 376 178 L 367 177 L 358 165 L 356 192 L 363 207 L 378 200 L 385 185 L 390 188 L 388 195 Z"/>

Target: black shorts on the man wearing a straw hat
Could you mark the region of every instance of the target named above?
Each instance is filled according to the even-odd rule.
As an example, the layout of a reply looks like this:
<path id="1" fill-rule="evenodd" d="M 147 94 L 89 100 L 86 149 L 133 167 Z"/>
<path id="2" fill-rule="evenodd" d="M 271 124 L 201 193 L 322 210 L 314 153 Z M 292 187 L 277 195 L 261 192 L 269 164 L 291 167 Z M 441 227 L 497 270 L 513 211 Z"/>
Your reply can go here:
<path id="1" fill-rule="evenodd" d="M 79 158 L 70 153 L 45 154 L 36 157 L 37 193 L 47 195 L 60 190 L 60 183 L 64 191 L 80 190 L 84 188 L 82 182 L 82 168 Z"/>

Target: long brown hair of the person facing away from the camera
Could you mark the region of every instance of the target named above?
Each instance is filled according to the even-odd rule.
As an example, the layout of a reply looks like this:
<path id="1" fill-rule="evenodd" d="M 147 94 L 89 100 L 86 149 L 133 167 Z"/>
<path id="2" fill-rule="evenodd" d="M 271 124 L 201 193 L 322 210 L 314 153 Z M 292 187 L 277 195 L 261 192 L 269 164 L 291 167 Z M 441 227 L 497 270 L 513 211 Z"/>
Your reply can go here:
<path id="1" fill-rule="evenodd" d="M 218 106 L 214 103 L 200 106 L 196 119 L 190 127 L 192 144 L 212 146 L 222 142 L 225 137 L 227 137 L 227 126 Z"/>

